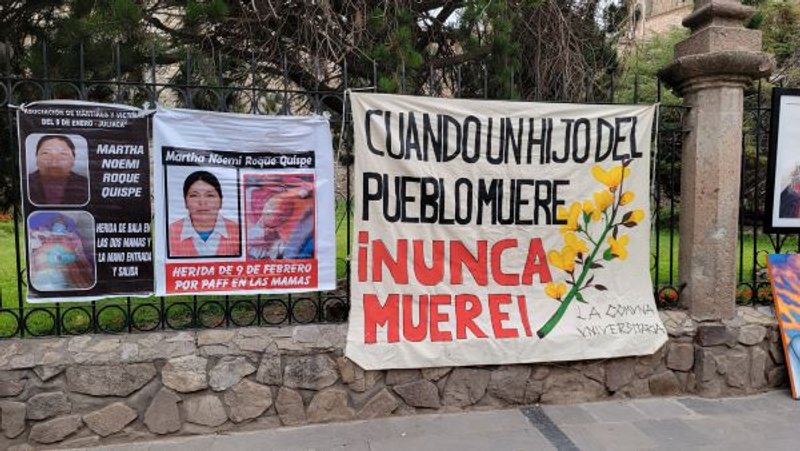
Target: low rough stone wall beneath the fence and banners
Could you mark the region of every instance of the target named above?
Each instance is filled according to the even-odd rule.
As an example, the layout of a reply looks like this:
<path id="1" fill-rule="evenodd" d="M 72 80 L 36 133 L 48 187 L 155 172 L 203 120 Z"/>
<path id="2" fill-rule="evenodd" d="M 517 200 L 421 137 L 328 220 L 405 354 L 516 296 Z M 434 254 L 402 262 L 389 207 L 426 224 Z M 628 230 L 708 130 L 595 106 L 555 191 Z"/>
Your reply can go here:
<path id="1" fill-rule="evenodd" d="M 0 448 L 88 446 L 388 415 L 604 398 L 739 395 L 785 384 L 774 319 L 661 313 L 652 356 L 364 371 L 346 325 L 0 342 Z"/>

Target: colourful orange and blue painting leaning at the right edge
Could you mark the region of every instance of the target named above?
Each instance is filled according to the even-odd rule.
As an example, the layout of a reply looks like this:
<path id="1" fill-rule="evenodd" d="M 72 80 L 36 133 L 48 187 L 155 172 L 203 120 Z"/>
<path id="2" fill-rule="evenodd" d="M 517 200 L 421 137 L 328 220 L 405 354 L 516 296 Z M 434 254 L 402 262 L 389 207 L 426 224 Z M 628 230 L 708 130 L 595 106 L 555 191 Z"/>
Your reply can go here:
<path id="1" fill-rule="evenodd" d="M 770 254 L 767 269 L 781 330 L 792 398 L 800 389 L 800 255 Z"/>

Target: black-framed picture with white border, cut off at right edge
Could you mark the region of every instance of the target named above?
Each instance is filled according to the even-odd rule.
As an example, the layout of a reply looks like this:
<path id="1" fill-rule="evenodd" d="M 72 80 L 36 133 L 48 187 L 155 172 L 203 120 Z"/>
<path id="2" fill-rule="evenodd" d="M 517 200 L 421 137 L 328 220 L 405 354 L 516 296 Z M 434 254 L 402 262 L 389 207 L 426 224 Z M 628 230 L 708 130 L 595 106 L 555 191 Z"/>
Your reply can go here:
<path id="1" fill-rule="evenodd" d="M 800 233 L 800 89 L 773 89 L 771 124 L 764 229 Z"/>

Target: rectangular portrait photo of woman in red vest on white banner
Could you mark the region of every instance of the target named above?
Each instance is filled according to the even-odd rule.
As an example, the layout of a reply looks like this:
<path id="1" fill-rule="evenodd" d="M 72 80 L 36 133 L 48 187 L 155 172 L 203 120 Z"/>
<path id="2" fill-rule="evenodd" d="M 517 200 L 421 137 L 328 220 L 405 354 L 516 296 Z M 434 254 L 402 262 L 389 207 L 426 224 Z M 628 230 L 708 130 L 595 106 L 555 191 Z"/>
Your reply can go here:
<path id="1" fill-rule="evenodd" d="M 236 170 L 167 168 L 169 258 L 241 255 Z"/>

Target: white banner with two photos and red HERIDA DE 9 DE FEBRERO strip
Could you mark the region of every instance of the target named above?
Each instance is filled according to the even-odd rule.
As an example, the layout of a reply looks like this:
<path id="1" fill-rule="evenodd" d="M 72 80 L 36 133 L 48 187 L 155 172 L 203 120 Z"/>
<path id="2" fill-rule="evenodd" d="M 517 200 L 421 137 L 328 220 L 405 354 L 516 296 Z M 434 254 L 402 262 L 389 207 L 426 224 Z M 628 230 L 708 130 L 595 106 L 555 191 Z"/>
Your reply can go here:
<path id="1" fill-rule="evenodd" d="M 153 128 L 158 294 L 335 287 L 327 119 L 159 109 Z"/>

